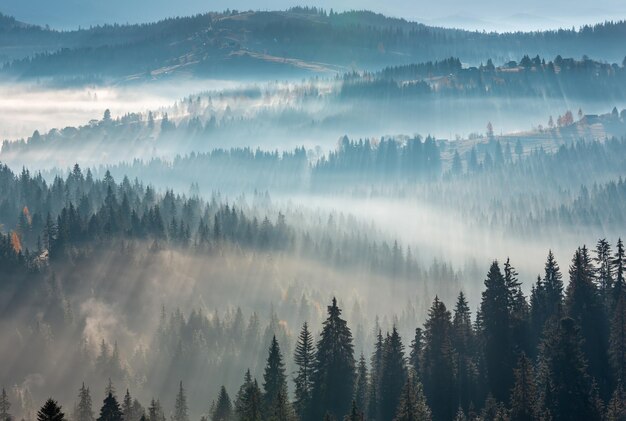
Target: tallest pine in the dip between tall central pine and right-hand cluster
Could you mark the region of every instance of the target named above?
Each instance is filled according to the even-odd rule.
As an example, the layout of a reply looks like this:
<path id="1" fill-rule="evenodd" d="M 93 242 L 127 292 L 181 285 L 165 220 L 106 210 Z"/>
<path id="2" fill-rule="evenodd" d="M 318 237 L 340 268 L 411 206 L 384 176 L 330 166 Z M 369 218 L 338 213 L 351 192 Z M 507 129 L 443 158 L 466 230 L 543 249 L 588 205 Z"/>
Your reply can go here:
<path id="1" fill-rule="evenodd" d="M 382 376 L 380 379 L 381 420 L 393 420 L 398 400 L 407 378 L 404 362 L 404 345 L 398 330 L 394 326 L 387 336 L 383 350 Z"/>

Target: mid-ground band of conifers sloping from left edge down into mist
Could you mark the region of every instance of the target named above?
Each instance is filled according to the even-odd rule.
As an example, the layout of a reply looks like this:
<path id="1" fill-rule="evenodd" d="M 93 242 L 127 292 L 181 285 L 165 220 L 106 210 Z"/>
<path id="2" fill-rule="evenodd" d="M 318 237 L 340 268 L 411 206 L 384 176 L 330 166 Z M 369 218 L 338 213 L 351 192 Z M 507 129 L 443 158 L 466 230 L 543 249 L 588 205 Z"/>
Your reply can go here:
<path id="1" fill-rule="evenodd" d="M 212 254 L 233 246 L 295 252 L 338 268 L 367 268 L 392 279 L 424 280 L 429 273 L 457 282 L 445 262 L 421 267 L 410 247 L 378 240 L 362 229 L 345 230 L 332 215 L 321 229 L 299 228 L 288 224 L 281 212 L 275 221 L 263 216 L 269 210 L 260 205 L 237 207 L 221 203 L 218 196 L 204 202 L 197 194 L 187 197 L 172 190 L 158 194 L 137 179 L 131 182 L 124 177 L 117 184 L 109 171 L 94 179 L 90 170 L 84 175 L 78 165 L 65 179 L 57 176 L 50 185 L 41 174 L 33 176 L 23 169 L 16 175 L 2 166 L 0 186 L 0 222 L 5 227 L 5 233 L 0 232 L 0 255 L 9 267 L 42 270 L 48 260 L 62 264 L 121 239 L 146 242 L 154 249 L 167 245 Z"/>

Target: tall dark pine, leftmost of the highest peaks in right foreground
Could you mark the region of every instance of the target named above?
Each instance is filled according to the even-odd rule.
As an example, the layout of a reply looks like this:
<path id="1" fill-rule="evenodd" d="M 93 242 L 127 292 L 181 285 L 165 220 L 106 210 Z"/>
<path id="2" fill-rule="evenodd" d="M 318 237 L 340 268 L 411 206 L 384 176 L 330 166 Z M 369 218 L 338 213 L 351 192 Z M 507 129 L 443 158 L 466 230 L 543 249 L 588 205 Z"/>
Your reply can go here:
<path id="1" fill-rule="evenodd" d="M 481 313 L 489 390 L 499 402 L 508 398 L 513 386 L 513 353 L 509 327 L 509 288 L 493 262 L 482 293 Z M 435 413 L 433 409 L 433 413 Z"/>

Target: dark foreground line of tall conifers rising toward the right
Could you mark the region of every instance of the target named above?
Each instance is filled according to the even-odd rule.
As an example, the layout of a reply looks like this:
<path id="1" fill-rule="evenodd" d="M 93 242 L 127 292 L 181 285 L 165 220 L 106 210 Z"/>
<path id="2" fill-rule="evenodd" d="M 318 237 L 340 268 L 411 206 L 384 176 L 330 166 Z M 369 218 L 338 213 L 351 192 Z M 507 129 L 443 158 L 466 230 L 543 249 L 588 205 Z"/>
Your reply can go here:
<path id="1" fill-rule="evenodd" d="M 509 260 L 494 261 L 473 320 L 463 293 L 452 310 L 435 298 L 410 342 L 395 326 L 377 332 L 370 364 L 355 355 L 353 333 L 333 299 L 317 341 L 302 325 L 293 350 L 293 394 L 285 350 L 270 332 L 262 380 L 248 370 L 233 398 L 222 387 L 205 408 L 215 421 L 622 419 L 625 264 L 621 240 L 615 251 L 600 240 L 593 252 L 575 251 L 565 285 L 550 252 L 527 297 Z M 206 323 L 201 314 L 192 318 L 190 324 Z M 249 332 L 241 334 L 246 340 Z M 185 393 L 177 385 L 174 420 L 188 419 Z M 89 389 L 83 385 L 78 396 L 72 419 L 92 419 Z M 9 409 L 3 392 L 3 419 Z M 59 412 L 48 401 L 38 420 Z M 146 412 L 128 392 L 120 405 L 109 382 L 98 420 L 158 420 L 163 413 L 158 400 Z"/>

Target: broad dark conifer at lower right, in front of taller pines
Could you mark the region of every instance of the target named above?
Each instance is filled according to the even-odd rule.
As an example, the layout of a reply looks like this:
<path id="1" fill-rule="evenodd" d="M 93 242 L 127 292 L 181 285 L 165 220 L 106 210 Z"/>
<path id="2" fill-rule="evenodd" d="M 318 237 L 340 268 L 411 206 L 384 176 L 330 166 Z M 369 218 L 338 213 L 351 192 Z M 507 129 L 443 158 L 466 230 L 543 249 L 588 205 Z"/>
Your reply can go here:
<path id="1" fill-rule="evenodd" d="M 594 420 L 591 380 L 574 320 L 562 319 L 544 339 L 541 361 L 542 404 L 554 421 Z"/>

